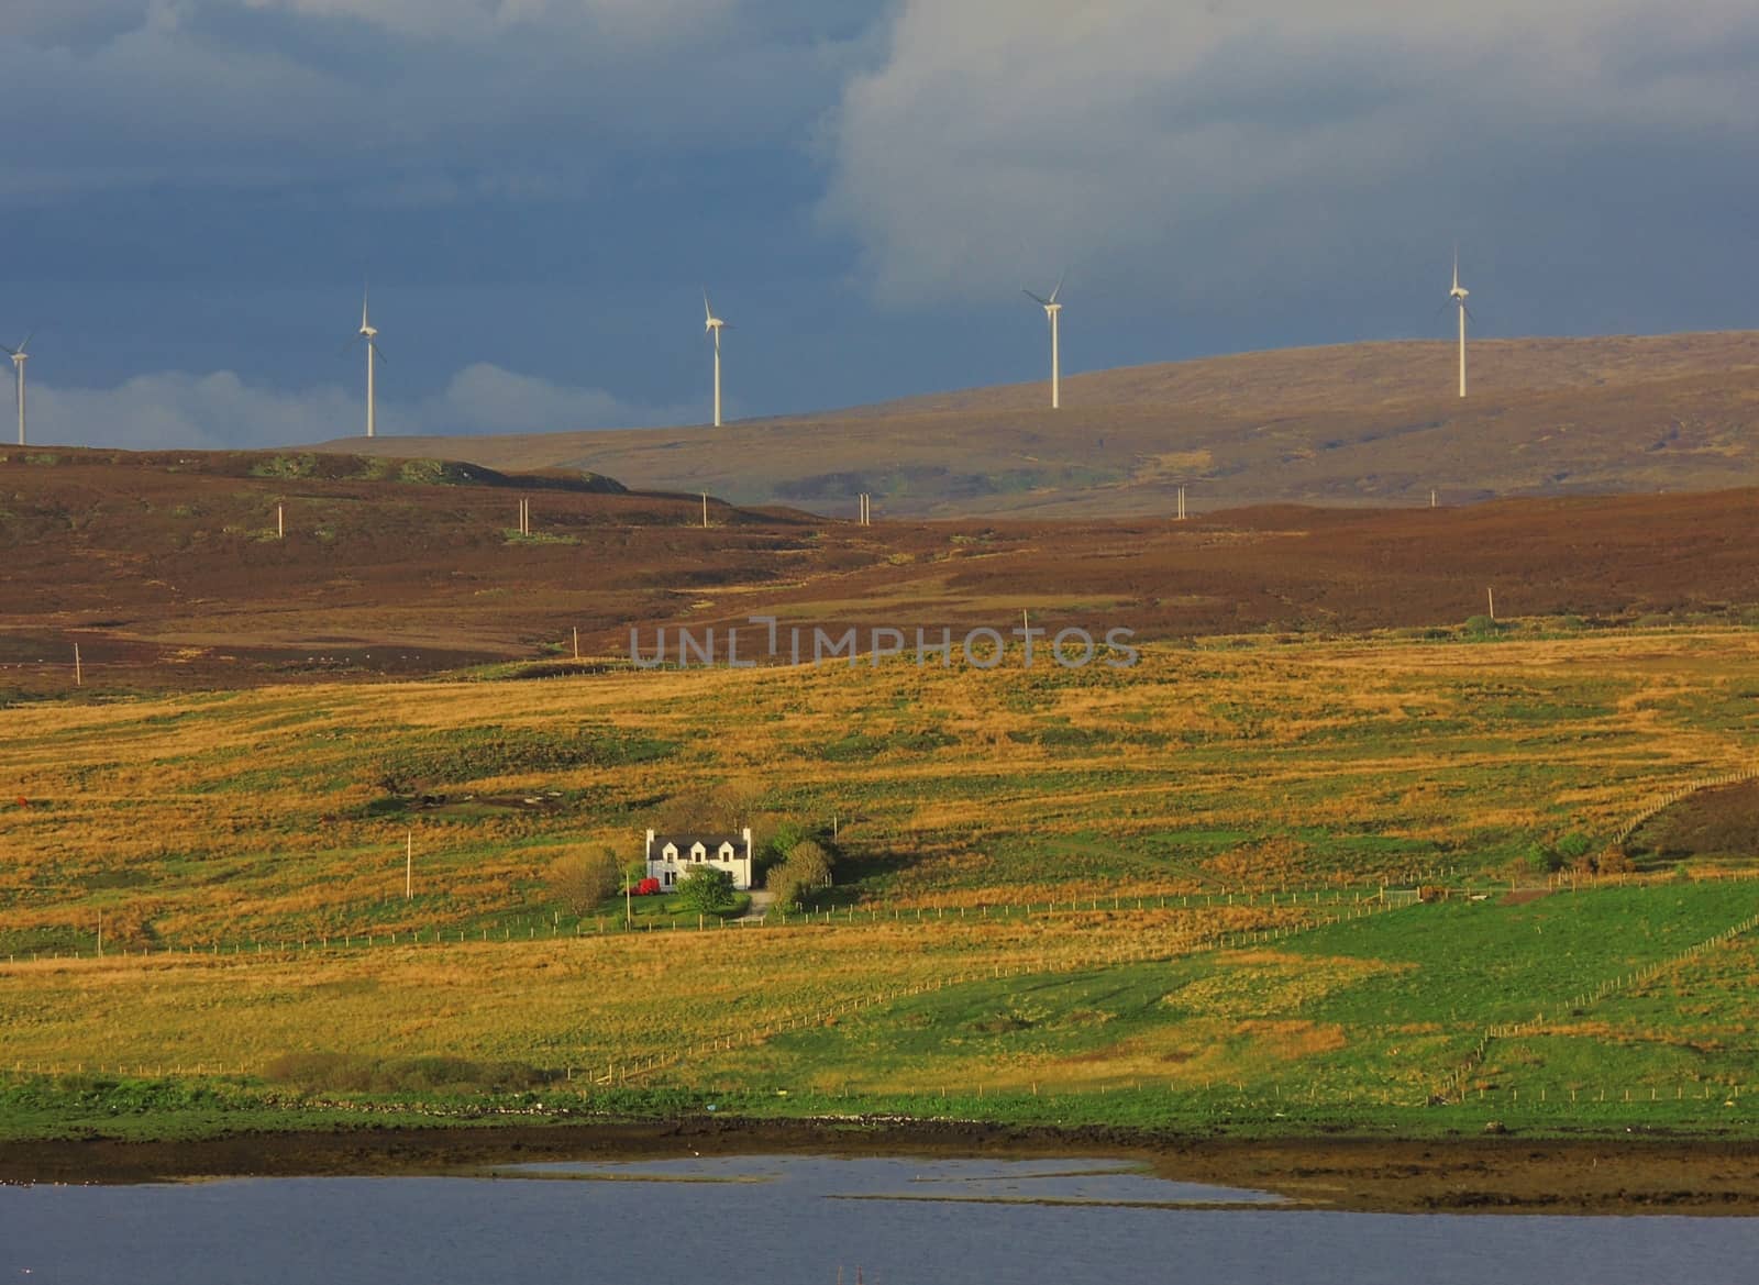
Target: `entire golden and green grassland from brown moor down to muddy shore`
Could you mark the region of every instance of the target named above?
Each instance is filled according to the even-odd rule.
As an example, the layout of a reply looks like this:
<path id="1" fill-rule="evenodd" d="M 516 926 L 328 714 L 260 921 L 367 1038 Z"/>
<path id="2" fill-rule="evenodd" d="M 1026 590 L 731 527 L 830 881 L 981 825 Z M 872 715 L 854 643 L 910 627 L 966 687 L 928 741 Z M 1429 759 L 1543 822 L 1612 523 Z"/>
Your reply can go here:
<path id="1" fill-rule="evenodd" d="M 1502 893 L 1748 766 L 1755 694 L 1729 629 L 9 710 L 0 1132 L 709 1102 L 1743 1130 L 1754 942 L 1696 947 L 1759 914 L 1750 854 Z M 814 916 L 561 912 L 556 856 L 630 856 L 702 786 L 836 828 Z M 1456 897 L 1379 909 L 1402 881 Z"/>

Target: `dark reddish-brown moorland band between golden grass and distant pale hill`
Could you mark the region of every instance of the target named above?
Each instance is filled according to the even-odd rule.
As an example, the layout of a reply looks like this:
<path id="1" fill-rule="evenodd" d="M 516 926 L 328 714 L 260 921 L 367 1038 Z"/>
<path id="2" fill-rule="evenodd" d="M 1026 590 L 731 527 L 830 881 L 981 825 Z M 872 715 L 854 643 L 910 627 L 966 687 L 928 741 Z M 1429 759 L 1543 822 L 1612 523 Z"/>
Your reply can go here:
<path id="1" fill-rule="evenodd" d="M 322 464 L 306 461 L 322 461 Z M 517 531 L 529 503 L 531 534 Z M 0 696 L 434 673 L 630 629 L 1011 628 L 1140 638 L 1747 619 L 1754 490 L 1458 508 L 1258 506 L 1189 522 L 881 520 L 368 457 L 0 457 Z M 276 534 L 276 510 L 285 538 Z M 725 633 L 721 635 L 725 638 Z"/>

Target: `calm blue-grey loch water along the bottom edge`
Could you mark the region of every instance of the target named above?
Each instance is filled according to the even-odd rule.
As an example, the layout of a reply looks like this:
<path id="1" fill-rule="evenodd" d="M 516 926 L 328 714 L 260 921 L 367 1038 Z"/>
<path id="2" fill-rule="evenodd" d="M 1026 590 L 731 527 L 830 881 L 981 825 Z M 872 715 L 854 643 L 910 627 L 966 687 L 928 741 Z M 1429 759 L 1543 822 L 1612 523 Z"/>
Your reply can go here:
<path id="1" fill-rule="evenodd" d="M 1370 1215 L 1117 1160 L 695 1157 L 0 1188 L 0 1285 L 1741 1285 L 1754 1218 Z"/>

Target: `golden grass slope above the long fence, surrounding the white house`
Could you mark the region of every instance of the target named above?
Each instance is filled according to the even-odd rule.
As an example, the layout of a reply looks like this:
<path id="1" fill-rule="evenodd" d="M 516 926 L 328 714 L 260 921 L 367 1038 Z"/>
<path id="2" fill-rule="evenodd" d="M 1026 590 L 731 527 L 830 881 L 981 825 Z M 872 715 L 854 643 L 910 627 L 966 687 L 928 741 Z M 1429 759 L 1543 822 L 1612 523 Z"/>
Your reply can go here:
<path id="1" fill-rule="evenodd" d="M 1254 638 L 1150 647 L 1131 670 L 1011 666 L 14 708 L 0 944 L 95 932 L 99 911 L 118 946 L 549 921 L 549 861 L 582 844 L 635 860 L 656 810 L 707 786 L 751 800 L 760 828 L 836 816 L 858 891 L 888 905 L 1499 868 L 1536 839 L 1604 842 L 1650 796 L 1750 766 L 1759 635 Z M 665 749 L 519 766 L 617 738 Z M 389 800 L 387 763 L 447 805 Z"/>

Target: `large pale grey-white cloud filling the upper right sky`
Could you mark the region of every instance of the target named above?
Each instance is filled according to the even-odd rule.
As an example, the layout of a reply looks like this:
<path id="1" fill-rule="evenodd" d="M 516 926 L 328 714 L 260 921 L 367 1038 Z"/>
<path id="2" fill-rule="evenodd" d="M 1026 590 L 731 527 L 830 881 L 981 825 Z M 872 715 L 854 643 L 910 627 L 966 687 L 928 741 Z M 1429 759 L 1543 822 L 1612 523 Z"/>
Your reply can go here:
<path id="1" fill-rule="evenodd" d="M 1546 158 L 1720 146 L 1755 70 L 1750 0 L 902 0 L 820 213 L 892 306 L 1069 264 L 1226 294 L 1455 195 L 1513 204 Z"/>

